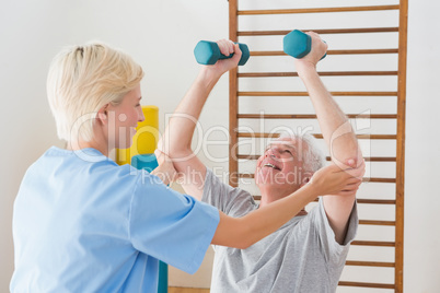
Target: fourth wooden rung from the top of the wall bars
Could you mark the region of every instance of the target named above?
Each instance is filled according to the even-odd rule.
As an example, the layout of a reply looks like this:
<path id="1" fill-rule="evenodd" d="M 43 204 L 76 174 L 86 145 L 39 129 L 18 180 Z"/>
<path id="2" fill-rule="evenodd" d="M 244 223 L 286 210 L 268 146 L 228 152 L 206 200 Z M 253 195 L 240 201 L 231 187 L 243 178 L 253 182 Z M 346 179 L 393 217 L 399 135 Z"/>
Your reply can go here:
<path id="1" fill-rule="evenodd" d="M 397 71 L 321 71 L 320 77 L 383 77 L 397 75 Z M 243 72 L 239 78 L 298 78 L 298 72 Z"/>

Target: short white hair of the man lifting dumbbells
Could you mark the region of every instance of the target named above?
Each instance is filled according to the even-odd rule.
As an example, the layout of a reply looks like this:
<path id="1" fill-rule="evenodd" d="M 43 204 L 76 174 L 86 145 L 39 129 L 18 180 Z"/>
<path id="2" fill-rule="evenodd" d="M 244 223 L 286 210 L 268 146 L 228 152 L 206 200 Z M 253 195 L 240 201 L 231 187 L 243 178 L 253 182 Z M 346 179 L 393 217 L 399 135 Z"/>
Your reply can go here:
<path id="1" fill-rule="evenodd" d="M 303 162 L 304 173 L 314 173 L 325 166 L 325 156 L 317 140 L 309 133 L 282 132 L 276 140 L 291 139 L 297 142 L 298 160 Z"/>

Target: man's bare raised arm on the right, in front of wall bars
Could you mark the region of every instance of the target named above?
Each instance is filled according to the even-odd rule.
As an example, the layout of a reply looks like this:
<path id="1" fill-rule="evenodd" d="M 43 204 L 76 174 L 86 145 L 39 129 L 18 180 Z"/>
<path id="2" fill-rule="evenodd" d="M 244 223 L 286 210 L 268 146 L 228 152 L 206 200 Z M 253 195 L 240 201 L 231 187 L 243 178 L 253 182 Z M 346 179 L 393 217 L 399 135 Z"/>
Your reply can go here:
<path id="1" fill-rule="evenodd" d="M 312 37 L 312 51 L 302 59 L 296 59 L 298 74 L 312 99 L 321 131 L 331 151 L 332 161 L 341 168 L 359 166 L 363 164 L 363 159 L 356 134 L 347 116 L 333 99 L 316 72 L 316 63 L 324 56 L 327 45 L 321 40 L 317 34 L 308 34 Z M 325 196 L 323 200 L 336 241 L 343 244 L 356 195 Z"/>

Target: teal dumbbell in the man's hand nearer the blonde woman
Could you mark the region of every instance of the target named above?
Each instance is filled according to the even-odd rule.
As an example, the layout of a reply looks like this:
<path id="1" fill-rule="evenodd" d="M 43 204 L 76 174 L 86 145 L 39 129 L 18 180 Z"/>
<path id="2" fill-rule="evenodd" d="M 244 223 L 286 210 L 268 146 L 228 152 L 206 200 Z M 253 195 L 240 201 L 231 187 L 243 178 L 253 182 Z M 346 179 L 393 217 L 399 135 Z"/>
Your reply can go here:
<path id="1" fill-rule="evenodd" d="M 247 59 L 250 59 L 250 49 L 247 48 L 247 45 L 238 43 L 240 46 L 240 49 L 242 51 L 242 58 L 240 58 L 239 66 L 244 66 L 247 62 Z M 217 45 L 216 42 L 209 42 L 209 40 L 200 40 L 197 43 L 197 46 L 194 48 L 194 56 L 196 57 L 196 60 L 198 63 L 204 65 L 204 66 L 212 66 L 215 65 L 219 59 L 229 59 L 234 56 L 233 54 L 225 56 L 220 52 L 219 45 Z"/>

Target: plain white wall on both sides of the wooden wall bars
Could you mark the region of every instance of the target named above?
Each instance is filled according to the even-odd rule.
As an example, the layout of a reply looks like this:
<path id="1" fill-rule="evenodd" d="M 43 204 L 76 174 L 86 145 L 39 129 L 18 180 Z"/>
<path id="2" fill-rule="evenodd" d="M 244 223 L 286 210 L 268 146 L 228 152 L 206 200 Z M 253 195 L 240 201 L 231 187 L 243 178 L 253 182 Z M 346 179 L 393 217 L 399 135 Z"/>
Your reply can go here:
<path id="1" fill-rule="evenodd" d="M 438 292 L 440 288 L 440 230 L 436 225 L 440 208 L 436 184 L 440 174 L 440 139 L 436 136 L 440 125 L 438 11 L 436 1 L 409 1 L 406 292 Z M 143 103 L 159 106 L 163 129 L 164 115 L 172 113 L 197 74 L 195 44 L 228 37 L 228 2 L 8 1 L 1 5 L 0 27 L 0 292 L 7 292 L 13 271 L 12 204 L 21 178 L 47 148 L 62 145 L 45 98 L 50 59 L 62 46 L 91 39 L 125 49 L 146 71 Z M 201 125 L 227 127 L 228 114 L 228 79 L 223 77 L 205 107 Z M 228 148 L 218 152 L 225 156 Z M 209 259 L 204 266 L 209 267 Z M 206 271 L 198 273 L 202 276 L 194 278 L 198 285 L 209 283 Z M 178 272 L 171 274 L 176 284 L 186 281 Z"/>

